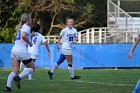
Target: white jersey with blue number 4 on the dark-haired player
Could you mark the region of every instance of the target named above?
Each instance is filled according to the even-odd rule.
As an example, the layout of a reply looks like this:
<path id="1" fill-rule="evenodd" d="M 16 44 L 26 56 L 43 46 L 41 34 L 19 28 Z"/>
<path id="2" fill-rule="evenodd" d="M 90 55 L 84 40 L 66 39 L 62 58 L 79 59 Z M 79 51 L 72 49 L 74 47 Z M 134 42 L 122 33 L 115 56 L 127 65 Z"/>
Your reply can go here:
<path id="1" fill-rule="evenodd" d="M 30 54 L 35 54 L 38 55 L 38 47 L 40 46 L 40 44 L 46 42 L 46 39 L 43 35 L 41 35 L 38 32 L 35 32 L 35 36 L 32 37 L 31 39 L 33 46 L 30 47 L 28 46 L 28 52 Z"/>

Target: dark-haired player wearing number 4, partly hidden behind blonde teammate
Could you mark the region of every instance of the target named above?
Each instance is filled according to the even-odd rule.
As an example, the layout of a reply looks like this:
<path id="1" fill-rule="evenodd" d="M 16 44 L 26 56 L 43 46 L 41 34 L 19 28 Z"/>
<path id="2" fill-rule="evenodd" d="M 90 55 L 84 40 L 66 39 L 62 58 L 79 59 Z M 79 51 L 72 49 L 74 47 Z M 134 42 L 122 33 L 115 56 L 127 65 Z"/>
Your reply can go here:
<path id="1" fill-rule="evenodd" d="M 45 47 L 48 50 L 48 57 L 50 58 L 50 49 L 48 47 L 48 43 L 47 40 L 44 38 L 44 36 L 42 34 L 39 33 L 40 30 L 40 25 L 39 24 L 35 24 L 31 31 L 32 31 L 32 38 L 31 38 L 31 42 L 33 44 L 32 47 L 28 46 L 28 52 L 31 55 L 31 58 L 33 59 L 33 61 L 35 62 L 35 60 L 37 59 L 38 56 L 38 48 L 41 44 L 44 44 Z M 26 69 L 26 68 L 25 68 Z M 28 75 L 29 80 L 32 79 L 32 74 Z"/>

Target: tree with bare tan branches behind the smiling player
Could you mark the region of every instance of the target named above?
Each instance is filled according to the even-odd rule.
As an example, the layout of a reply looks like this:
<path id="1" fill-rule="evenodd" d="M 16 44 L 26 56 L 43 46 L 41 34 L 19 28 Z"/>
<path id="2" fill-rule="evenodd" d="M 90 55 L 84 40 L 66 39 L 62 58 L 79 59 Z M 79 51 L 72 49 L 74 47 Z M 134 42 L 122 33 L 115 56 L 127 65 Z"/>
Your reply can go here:
<path id="1" fill-rule="evenodd" d="M 79 1 L 80 2 L 80 1 Z M 79 3 L 78 2 L 78 3 Z M 26 11 L 30 12 L 34 17 L 40 17 L 41 25 L 45 26 L 44 14 L 49 17 L 49 29 L 47 35 L 56 29 L 62 29 L 65 26 L 67 17 L 76 19 L 76 27 L 82 27 L 87 21 L 90 21 L 93 12 L 93 4 L 85 3 L 78 5 L 75 0 L 20 0 L 20 6 L 27 6 Z M 63 16 L 62 16 L 63 15 Z"/>

